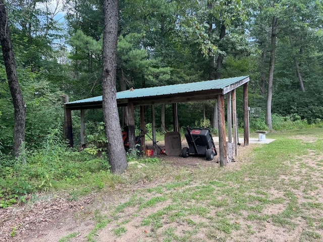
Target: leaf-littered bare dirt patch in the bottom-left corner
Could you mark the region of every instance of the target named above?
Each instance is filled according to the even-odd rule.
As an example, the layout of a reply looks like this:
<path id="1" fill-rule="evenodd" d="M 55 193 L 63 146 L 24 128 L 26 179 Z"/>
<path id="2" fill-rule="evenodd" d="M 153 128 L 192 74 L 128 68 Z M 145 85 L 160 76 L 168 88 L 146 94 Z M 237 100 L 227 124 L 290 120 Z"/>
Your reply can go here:
<path id="1" fill-rule="evenodd" d="M 65 224 L 69 224 L 70 231 L 80 225 L 72 214 L 82 211 L 94 199 L 87 196 L 80 201 L 68 201 L 49 194 L 37 196 L 38 201 L 0 209 L 0 241 L 43 241 L 48 234 L 52 239 L 47 241 L 57 241 Z M 86 226 L 92 224 L 88 222 Z"/>

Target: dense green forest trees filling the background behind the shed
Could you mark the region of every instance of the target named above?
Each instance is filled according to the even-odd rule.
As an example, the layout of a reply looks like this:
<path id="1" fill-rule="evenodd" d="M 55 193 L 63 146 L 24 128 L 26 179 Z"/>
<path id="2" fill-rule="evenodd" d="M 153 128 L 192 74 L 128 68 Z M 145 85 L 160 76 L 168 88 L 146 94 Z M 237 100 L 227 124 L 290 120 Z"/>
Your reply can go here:
<path id="1" fill-rule="evenodd" d="M 70 100 L 102 94 L 103 1 L 5 4 L 27 106 L 25 142 L 36 148 L 48 130 L 62 130 L 62 94 Z M 118 6 L 117 91 L 249 75 L 249 105 L 261 110 L 257 124 L 264 124 L 272 63 L 271 113 L 309 124 L 323 119 L 321 0 L 119 0 Z M 271 62 L 274 17 L 276 56 Z M 10 153 L 14 107 L 4 61 L 1 57 L 0 148 Z M 238 105 L 241 96 L 238 90 Z M 180 104 L 183 127 L 203 116 L 194 106 Z M 213 103 L 205 103 L 205 108 L 211 120 Z M 157 122 L 161 109 L 156 107 Z M 94 131 L 103 114 L 87 112 L 87 129 Z M 73 119 L 78 118 L 74 113 Z M 166 115 L 166 123 L 169 118 Z M 149 115 L 146 119 L 151 122 Z"/>

